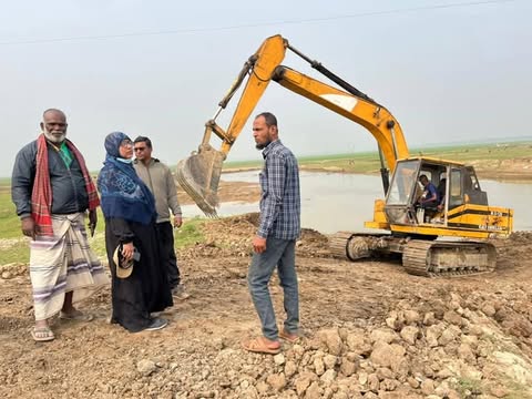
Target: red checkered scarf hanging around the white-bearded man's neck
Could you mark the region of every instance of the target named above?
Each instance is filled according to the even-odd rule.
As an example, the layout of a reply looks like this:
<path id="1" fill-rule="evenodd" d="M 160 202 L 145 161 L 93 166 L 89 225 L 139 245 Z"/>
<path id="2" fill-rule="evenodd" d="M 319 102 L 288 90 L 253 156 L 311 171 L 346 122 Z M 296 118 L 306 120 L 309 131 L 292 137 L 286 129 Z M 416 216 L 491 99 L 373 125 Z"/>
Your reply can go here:
<path id="1" fill-rule="evenodd" d="M 85 165 L 85 160 L 70 140 L 65 140 L 66 146 L 80 164 L 85 180 L 86 194 L 89 196 L 89 209 L 95 209 L 100 205 L 96 188 Z M 47 139 L 41 134 L 37 139 L 35 181 L 31 193 L 31 216 L 35 222 L 38 234 L 53 236 L 52 227 L 52 186 L 50 184 L 50 171 L 48 168 Z"/>

